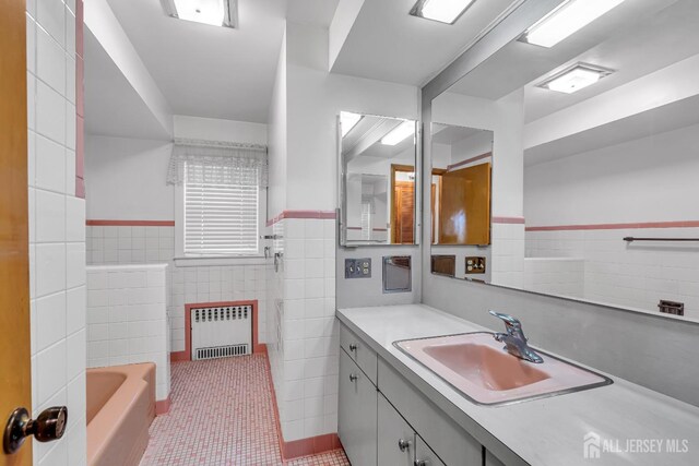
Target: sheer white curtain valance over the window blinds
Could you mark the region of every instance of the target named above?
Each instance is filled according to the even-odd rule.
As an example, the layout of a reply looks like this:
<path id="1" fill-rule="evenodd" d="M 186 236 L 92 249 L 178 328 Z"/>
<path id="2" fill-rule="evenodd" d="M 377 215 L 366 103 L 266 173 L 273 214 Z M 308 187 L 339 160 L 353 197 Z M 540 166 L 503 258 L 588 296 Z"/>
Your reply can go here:
<path id="1" fill-rule="evenodd" d="M 268 186 L 266 146 L 175 140 L 167 184 Z"/>

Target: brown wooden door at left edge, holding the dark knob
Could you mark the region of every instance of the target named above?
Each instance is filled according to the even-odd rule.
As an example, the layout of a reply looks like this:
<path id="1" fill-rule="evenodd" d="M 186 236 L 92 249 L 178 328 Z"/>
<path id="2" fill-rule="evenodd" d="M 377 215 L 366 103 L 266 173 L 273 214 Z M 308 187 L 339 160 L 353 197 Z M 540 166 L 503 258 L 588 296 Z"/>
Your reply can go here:
<path id="1" fill-rule="evenodd" d="M 27 208 L 26 16 L 0 0 L 0 426 L 32 408 Z M 32 464 L 32 443 L 0 466 Z"/>

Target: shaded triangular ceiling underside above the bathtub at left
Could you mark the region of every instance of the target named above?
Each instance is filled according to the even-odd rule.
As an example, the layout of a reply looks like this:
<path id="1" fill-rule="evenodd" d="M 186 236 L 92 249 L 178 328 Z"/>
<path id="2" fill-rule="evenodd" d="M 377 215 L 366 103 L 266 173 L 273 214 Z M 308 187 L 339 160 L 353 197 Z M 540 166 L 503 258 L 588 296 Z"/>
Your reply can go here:
<path id="1" fill-rule="evenodd" d="M 169 140 L 147 105 L 85 27 L 85 132 Z"/>

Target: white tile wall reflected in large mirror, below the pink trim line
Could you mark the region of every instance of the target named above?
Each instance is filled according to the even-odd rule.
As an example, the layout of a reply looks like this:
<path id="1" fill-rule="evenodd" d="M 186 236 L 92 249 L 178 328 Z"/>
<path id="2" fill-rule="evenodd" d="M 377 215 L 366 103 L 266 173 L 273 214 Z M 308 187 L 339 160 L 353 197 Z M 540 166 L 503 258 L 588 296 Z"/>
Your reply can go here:
<path id="1" fill-rule="evenodd" d="M 528 231 L 526 254 L 584 260 L 584 299 L 657 312 L 661 299 L 699 319 L 699 250 L 692 243 L 633 242 L 624 237 L 697 238 L 699 228 Z"/>

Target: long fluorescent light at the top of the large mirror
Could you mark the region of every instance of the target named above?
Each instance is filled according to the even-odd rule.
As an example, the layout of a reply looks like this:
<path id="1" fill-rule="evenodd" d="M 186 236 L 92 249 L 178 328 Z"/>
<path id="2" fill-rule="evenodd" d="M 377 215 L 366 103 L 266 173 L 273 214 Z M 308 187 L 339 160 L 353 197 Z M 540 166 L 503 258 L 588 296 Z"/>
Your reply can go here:
<path id="1" fill-rule="evenodd" d="M 623 2 L 624 0 L 568 0 L 530 27 L 522 40 L 553 47 Z"/>

